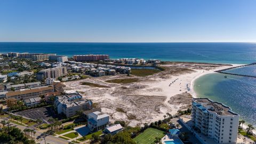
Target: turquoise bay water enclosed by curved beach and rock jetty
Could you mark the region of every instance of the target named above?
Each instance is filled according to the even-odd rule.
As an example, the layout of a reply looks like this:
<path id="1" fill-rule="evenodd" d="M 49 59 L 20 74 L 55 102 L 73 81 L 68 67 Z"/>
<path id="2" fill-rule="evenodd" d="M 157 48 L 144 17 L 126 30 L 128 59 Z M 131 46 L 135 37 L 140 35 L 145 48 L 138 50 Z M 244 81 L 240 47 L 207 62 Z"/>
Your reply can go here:
<path id="1" fill-rule="evenodd" d="M 194 90 L 197 97 L 222 102 L 256 126 L 256 78 L 207 74 L 196 79 Z"/>

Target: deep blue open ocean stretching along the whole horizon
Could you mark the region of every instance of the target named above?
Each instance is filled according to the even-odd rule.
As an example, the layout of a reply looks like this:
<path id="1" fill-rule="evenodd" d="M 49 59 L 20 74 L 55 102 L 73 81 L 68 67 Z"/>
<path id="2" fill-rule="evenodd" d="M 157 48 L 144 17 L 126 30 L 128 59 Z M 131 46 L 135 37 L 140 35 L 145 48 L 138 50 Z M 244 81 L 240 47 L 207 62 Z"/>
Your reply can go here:
<path id="1" fill-rule="evenodd" d="M 252 63 L 256 43 L 0 43 L 0 52 L 109 54 L 110 58 Z"/>

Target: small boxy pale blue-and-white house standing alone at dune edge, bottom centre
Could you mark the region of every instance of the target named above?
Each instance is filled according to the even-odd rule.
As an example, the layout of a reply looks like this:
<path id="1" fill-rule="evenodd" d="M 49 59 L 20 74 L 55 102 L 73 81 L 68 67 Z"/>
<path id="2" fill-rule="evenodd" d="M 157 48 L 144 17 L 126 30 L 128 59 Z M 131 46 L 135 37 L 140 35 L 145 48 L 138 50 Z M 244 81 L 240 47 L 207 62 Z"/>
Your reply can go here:
<path id="1" fill-rule="evenodd" d="M 99 131 L 105 129 L 109 124 L 109 115 L 101 113 L 100 111 L 95 111 L 88 115 L 87 126 L 90 131 Z"/>

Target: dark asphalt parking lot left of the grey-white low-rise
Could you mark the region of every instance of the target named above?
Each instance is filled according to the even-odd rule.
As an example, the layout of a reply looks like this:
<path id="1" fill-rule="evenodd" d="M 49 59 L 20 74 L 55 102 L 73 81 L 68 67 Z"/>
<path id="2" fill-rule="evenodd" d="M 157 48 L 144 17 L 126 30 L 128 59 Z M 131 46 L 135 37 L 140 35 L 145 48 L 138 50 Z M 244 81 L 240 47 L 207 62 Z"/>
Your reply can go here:
<path id="1" fill-rule="evenodd" d="M 45 119 L 46 121 L 48 121 L 51 118 L 59 118 L 58 115 L 54 113 L 53 108 L 50 106 L 23 110 L 15 114 L 32 119 Z"/>

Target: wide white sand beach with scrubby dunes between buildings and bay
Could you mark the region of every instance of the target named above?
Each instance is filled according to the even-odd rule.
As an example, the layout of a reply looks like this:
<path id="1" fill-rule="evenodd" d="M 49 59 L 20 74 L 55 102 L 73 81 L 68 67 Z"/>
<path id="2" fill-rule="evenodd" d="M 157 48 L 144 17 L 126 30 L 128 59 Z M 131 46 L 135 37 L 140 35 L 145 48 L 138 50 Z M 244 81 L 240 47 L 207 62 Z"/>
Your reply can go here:
<path id="1" fill-rule="evenodd" d="M 65 84 L 97 103 L 104 113 L 110 115 L 111 122 L 126 121 L 129 125 L 135 126 L 155 122 L 163 119 L 166 113 L 174 115 L 178 110 L 189 108 L 191 95 L 196 97 L 193 91 L 196 78 L 234 66 L 239 65 L 175 63 L 163 65 L 165 71 L 147 77 L 116 75 L 87 78 Z M 127 84 L 106 82 L 119 78 L 139 78 L 139 81 Z M 81 85 L 81 82 L 105 87 Z"/>

